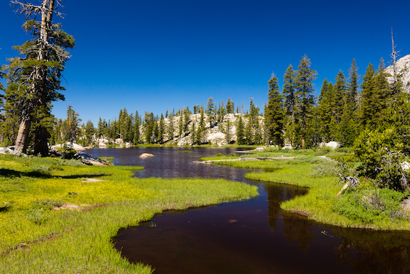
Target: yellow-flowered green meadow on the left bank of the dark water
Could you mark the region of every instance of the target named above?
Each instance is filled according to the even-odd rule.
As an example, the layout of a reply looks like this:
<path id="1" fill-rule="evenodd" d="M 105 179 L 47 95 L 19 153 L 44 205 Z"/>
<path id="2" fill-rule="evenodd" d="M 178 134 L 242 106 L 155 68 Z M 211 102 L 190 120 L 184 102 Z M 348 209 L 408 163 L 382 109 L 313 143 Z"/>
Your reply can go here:
<path id="1" fill-rule="evenodd" d="M 120 228 L 163 210 L 257 195 L 256 187 L 225 180 L 132 178 L 141 168 L 131 166 L 8 155 L 0 166 L 0 273 L 151 273 L 113 248 Z M 62 204 L 81 208 L 52 210 Z"/>

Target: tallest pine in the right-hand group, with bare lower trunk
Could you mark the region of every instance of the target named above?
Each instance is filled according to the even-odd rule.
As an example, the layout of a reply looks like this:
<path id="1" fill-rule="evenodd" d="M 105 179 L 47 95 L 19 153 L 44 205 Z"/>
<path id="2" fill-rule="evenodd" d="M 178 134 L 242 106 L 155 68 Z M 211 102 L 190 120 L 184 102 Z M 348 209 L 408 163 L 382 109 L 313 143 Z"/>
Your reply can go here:
<path id="1" fill-rule="evenodd" d="M 315 103 L 313 96 L 313 81 L 316 79 L 316 74 L 313 69 L 310 69 L 310 59 L 305 55 L 299 63 L 298 72 L 295 78 L 296 94 L 299 103 L 299 119 L 301 123 L 302 148 L 305 148 L 307 137 L 307 123 L 310 119 L 310 110 Z"/>

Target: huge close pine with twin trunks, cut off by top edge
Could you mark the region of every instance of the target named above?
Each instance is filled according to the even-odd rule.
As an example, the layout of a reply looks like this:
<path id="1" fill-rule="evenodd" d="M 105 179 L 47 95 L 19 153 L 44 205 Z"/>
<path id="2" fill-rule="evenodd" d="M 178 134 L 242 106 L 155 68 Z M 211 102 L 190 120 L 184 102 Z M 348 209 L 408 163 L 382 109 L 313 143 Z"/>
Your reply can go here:
<path id="1" fill-rule="evenodd" d="M 24 45 L 14 47 L 23 57 L 9 59 L 10 64 L 4 67 L 8 80 L 5 99 L 14 98 L 21 121 L 15 154 L 27 150 L 33 124 L 34 151 L 47 156 L 48 131 L 54 122 L 51 115 L 52 101 L 64 100 L 59 91 L 64 90 L 60 85 L 61 72 L 69 59 L 69 52 L 65 49 L 74 47 L 74 38 L 64 33 L 60 29 L 61 25 L 52 23 L 54 13 L 60 15 L 56 11 L 60 1 L 42 0 L 41 3 L 41 6 L 35 6 L 28 2 L 11 1 L 11 4 L 18 6 L 20 15 L 25 13 L 23 28 L 34 37 Z M 41 15 L 41 21 L 35 21 L 38 15 Z M 20 88 L 13 89 L 13 84 L 18 84 Z"/>

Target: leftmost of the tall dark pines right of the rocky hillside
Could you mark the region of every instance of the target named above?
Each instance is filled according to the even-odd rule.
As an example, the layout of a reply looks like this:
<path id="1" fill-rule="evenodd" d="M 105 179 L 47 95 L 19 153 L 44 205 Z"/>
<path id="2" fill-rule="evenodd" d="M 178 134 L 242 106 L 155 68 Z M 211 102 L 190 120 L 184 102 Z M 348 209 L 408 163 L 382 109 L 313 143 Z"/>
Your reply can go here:
<path id="1" fill-rule="evenodd" d="M 283 108 L 283 95 L 279 93 L 278 79 L 274 74 L 269 79 L 268 85 L 268 104 L 265 109 L 267 139 L 269 144 L 273 142 L 282 146 L 285 110 Z"/>

